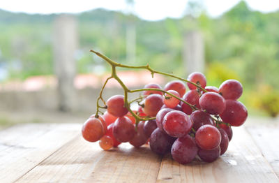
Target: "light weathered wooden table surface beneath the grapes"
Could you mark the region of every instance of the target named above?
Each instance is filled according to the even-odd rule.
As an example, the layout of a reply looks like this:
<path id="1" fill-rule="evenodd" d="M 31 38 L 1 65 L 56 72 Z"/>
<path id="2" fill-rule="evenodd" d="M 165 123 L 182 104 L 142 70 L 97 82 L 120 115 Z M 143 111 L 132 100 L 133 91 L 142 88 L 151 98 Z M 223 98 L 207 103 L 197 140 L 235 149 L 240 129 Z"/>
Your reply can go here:
<path id="1" fill-rule="evenodd" d="M 279 182 L 278 126 L 234 128 L 213 163 L 180 165 L 128 143 L 103 151 L 81 124 L 24 124 L 0 131 L 0 182 Z"/>

